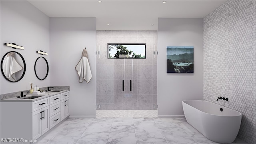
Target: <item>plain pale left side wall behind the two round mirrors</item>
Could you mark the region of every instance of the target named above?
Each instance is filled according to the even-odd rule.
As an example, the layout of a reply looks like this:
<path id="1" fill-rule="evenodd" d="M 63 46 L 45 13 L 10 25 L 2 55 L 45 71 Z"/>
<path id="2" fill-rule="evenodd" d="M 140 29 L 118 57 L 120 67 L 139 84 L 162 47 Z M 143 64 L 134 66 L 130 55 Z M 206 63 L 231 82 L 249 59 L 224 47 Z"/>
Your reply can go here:
<path id="1" fill-rule="evenodd" d="M 26 62 L 26 73 L 19 82 L 7 81 L 2 73 L 0 94 L 30 89 L 30 82 L 39 87 L 49 86 L 49 76 L 45 80 L 36 78 L 34 63 L 42 55 L 37 50 L 50 51 L 50 19 L 27 1 L 1 0 L 1 43 L 0 57 L 9 51 L 22 54 Z M 4 43 L 16 43 L 24 50 L 4 46 Z M 44 56 L 49 62 L 49 56 Z"/>

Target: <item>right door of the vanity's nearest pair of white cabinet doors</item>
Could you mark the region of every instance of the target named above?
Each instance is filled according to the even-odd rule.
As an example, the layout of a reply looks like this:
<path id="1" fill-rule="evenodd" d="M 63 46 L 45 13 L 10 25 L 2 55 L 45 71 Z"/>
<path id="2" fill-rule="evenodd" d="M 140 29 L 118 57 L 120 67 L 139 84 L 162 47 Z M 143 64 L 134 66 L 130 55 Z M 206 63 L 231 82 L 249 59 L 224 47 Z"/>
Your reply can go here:
<path id="1" fill-rule="evenodd" d="M 42 111 L 42 116 L 43 116 L 43 118 L 42 118 L 42 122 L 41 122 L 41 126 L 42 126 L 42 135 L 44 134 L 44 133 L 46 133 L 48 130 L 50 130 L 50 123 L 49 123 L 49 106 L 46 106 L 45 108 L 42 108 L 41 109 L 41 111 Z"/>

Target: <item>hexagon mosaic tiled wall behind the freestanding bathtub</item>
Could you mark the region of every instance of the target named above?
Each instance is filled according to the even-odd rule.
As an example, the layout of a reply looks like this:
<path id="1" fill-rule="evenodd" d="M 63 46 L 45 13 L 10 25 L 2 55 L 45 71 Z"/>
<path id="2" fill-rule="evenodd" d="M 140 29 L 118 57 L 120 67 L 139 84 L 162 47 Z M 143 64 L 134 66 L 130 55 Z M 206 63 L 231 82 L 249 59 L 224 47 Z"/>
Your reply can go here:
<path id="1" fill-rule="evenodd" d="M 254 1 L 228 1 L 204 18 L 204 100 L 242 113 L 238 137 L 256 143 Z M 228 98 L 228 101 L 217 97 Z"/>

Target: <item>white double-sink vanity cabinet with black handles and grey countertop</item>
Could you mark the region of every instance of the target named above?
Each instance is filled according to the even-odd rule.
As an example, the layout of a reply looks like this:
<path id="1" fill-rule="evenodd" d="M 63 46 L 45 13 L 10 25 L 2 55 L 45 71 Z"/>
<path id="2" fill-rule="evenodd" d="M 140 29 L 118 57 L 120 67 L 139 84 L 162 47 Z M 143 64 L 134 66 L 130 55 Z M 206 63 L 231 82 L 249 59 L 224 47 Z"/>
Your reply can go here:
<path id="1" fill-rule="evenodd" d="M 1 100 L 1 138 L 34 142 L 70 115 L 70 91 L 51 90 L 42 94 Z"/>

